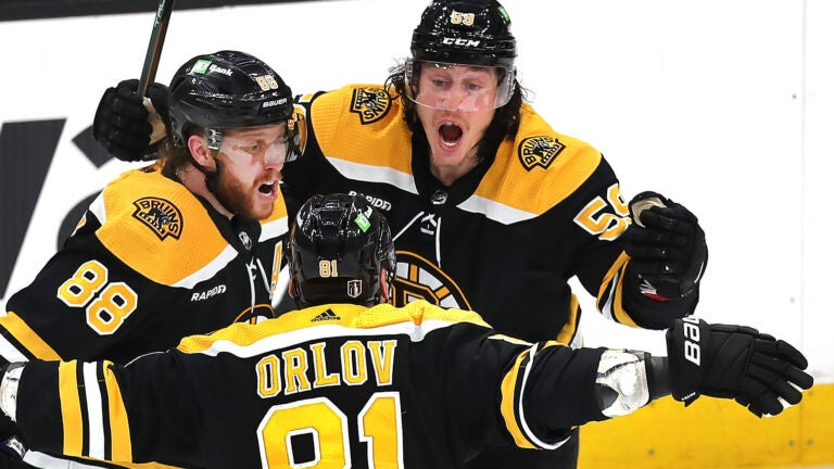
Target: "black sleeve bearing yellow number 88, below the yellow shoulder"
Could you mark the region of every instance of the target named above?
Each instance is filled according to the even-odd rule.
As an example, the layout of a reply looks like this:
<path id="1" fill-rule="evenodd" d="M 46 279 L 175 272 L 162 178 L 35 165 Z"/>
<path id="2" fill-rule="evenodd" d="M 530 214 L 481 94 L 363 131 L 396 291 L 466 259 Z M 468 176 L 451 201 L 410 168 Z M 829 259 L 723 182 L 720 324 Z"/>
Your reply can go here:
<path id="1" fill-rule="evenodd" d="M 109 252 L 93 233 L 98 226 L 88 212 L 64 249 L 9 299 L 0 317 L 7 362 L 99 357 L 153 309 L 159 286 Z"/>

